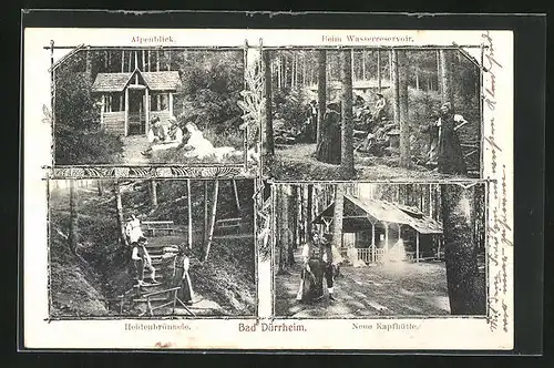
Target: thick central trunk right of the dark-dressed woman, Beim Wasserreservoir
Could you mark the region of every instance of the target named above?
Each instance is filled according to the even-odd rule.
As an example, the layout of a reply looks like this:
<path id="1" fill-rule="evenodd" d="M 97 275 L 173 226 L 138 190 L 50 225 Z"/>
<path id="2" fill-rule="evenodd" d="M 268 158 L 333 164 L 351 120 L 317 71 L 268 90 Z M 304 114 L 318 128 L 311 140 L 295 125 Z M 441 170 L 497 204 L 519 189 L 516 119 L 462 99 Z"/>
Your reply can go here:
<path id="1" fill-rule="evenodd" d="M 340 171 L 342 178 L 352 178 L 353 168 L 353 120 L 352 120 L 352 54 L 351 51 L 342 51 L 342 143 Z"/>

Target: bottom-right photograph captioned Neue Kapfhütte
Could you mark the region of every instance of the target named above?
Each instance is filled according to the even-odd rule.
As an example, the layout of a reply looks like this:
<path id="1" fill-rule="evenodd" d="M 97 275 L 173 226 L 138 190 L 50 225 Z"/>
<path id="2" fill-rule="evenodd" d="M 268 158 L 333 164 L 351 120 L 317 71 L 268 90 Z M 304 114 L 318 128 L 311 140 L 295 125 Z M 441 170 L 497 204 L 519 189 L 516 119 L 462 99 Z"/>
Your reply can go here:
<path id="1" fill-rule="evenodd" d="M 485 182 L 273 184 L 274 316 L 485 316 Z"/>

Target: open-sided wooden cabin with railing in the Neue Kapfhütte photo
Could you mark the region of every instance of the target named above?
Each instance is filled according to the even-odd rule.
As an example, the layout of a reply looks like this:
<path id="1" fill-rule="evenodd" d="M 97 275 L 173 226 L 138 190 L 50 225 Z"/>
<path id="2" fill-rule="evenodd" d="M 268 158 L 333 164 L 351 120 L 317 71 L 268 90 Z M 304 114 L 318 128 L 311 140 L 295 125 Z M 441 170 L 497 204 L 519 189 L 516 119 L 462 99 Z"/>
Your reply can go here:
<path id="1" fill-rule="evenodd" d="M 331 228 L 335 202 L 325 208 L 314 224 Z M 442 225 L 414 207 L 380 200 L 345 195 L 342 217 L 342 253 L 349 247 L 358 259 L 377 262 L 401 244 L 409 258 L 434 258 L 440 254 Z"/>

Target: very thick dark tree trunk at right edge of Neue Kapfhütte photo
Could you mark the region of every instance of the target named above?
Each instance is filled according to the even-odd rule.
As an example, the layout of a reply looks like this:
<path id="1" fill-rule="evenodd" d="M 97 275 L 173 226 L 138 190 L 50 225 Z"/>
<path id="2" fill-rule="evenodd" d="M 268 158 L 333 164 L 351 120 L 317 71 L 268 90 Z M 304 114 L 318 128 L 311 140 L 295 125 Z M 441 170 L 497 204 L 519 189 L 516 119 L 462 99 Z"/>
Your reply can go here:
<path id="1" fill-rule="evenodd" d="M 441 186 L 447 283 L 452 315 L 485 313 L 485 287 L 478 269 L 474 187 Z"/>

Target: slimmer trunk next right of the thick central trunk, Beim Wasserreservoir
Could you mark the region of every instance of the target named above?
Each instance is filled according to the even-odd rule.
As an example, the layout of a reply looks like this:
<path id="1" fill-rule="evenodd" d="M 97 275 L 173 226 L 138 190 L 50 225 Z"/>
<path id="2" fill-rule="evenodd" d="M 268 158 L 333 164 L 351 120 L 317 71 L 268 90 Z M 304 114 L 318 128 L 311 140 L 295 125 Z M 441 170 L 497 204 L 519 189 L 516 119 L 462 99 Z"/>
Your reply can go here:
<path id="1" fill-rule="evenodd" d="M 400 98 L 400 166 L 409 167 L 410 155 L 410 121 L 408 116 L 408 59 L 406 51 L 396 51 L 399 75 L 398 89 Z"/>

